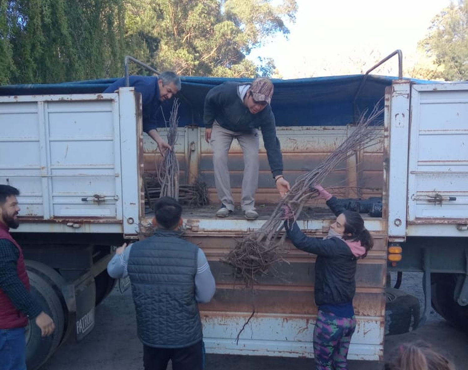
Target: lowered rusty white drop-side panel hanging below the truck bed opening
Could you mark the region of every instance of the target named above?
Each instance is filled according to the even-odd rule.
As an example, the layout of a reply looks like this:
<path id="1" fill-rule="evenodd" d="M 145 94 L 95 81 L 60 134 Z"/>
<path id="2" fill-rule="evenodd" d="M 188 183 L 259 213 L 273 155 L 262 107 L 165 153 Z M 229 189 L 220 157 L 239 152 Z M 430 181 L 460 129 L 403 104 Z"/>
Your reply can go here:
<path id="1" fill-rule="evenodd" d="M 235 246 L 241 233 L 187 231 L 188 240 L 207 256 L 217 283 L 210 303 L 200 304 L 208 353 L 312 357 L 317 307 L 314 303 L 312 254 L 285 245 L 277 276 L 264 276 L 253 289 L 234 279 L 230 266 L 219 260 Z M 323 234 L 310 234 L 322 237 Z M 358 262 L 354 308 L 358 325 L 350 359 L 379 360 L 383 348 L 387 237 L 373 233 L 376 250 Z M 240 335 L 242 326 L 255 314 Z"/>

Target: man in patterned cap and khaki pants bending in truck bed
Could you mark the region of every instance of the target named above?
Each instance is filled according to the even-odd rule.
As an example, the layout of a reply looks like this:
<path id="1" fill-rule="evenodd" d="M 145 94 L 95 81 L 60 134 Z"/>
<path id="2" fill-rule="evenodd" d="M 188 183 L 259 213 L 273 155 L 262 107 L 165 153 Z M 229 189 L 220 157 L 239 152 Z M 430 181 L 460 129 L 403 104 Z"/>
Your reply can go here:
<path id="1" fill-rule="evenodd" d="M 283 156 L 276 137 L 271 96 L 273 83 L 268 78 L 257 78 L 252 83 L 225 82 L 206 95 L 205 139 L 213 149 L 214 180 L 221 200 L 217 217 L 227 217 L 234 212 L 227 168 L 227 155 L 233 139 L 237 139 L 244 154 L 241 208 L 248 220 L 258 217 L 255 210 L 260 169 L 258 128 L 262 130 L 268 163 L 278 192 L 284 196 L 290 190 L 289 183 L 283 177 Z"/>

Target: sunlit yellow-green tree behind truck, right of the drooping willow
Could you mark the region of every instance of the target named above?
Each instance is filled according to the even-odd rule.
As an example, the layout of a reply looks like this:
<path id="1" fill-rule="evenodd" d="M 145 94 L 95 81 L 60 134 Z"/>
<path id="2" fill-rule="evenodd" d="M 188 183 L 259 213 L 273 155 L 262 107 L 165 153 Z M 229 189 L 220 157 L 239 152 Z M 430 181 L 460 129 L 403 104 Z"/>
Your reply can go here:
<path id="1" fill-rule="evenodd" d="M 278 1 L 277 1 L 278 2 Z M 271 72 L 266 60 L 258 70 L 246 59 L 251 48 L 295 20 L 295 0 L 127 0 L 127 49 L 159 70 L 183 75 L 254 77 Z M 142 46 L 145 46 L 142 48 Z"/>

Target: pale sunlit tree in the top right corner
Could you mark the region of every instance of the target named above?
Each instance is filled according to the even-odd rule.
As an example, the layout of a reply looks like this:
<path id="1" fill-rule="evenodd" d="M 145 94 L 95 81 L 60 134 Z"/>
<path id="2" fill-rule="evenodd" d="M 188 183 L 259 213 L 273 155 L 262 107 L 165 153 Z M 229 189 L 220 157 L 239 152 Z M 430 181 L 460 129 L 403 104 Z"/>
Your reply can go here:
<path id="1" fill-rule="evenodd" d="M 420 46 L 439 68 L 433 77 L 468 80 L 468 0 L 451 3 L 436 15 Z"/>

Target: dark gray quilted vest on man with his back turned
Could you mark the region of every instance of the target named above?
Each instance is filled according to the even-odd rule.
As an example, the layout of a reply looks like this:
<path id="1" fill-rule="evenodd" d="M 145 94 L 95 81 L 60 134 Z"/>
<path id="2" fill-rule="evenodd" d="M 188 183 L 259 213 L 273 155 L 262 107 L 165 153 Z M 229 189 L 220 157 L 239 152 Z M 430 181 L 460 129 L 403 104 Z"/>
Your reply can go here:
<path id="1" fill-rule="evenodd" d="M 157 230 L 132 245 L 127 267 L 138 337 L 146 346 L 182 348 L 202 340 L 195 301 L 197 253 L 197 245 L 171 230 Z"/>

